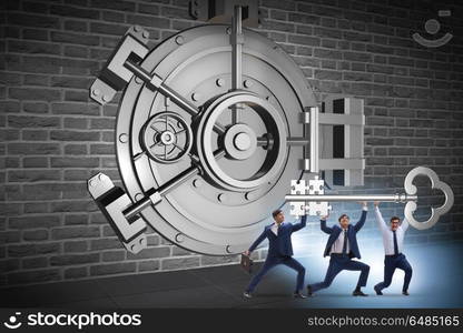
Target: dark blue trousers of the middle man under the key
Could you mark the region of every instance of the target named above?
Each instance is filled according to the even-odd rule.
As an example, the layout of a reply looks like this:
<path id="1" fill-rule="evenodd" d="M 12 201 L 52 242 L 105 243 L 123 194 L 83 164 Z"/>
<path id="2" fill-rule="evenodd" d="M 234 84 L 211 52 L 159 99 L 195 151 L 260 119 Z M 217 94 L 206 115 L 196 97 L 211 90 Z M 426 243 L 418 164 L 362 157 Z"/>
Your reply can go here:
<path id="1" fill-rule="evenodd" d="M 358 278 L 357 287 L 365 286 L 366 280 L 368 279 L 370 266 L 359 261 L 354 261 L 348 256 L 342 255 L 332 255 L 329 259 L 328 270 L 326 271 L 325 280 L 323 282 L 311 284 L 312 292 L 317 290 L 328 287 L 334 278 L 341 271 L 361 271 L 361 276 Z"/>

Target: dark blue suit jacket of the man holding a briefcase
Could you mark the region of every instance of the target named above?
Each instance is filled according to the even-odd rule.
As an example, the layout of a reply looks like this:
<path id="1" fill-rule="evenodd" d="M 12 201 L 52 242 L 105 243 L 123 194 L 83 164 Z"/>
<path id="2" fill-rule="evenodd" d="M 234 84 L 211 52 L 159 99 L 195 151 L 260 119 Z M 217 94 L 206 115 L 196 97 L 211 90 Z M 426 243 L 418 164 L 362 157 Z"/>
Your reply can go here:
<path id="1" fill-rule="evenodd" d="M 284 222 L 278 229 L 278 235 L 272 231 L 272 225 L 266 225 L 263 233 L 250 245 L 249 252 L 254 251 L 266 238 L 268 239 L 267 256 L 293 255 L 293 244 L 290 242 L 290 234 L 303 229 L 306 225 L 307 216 L 301 218 L 299 223 Z"/>

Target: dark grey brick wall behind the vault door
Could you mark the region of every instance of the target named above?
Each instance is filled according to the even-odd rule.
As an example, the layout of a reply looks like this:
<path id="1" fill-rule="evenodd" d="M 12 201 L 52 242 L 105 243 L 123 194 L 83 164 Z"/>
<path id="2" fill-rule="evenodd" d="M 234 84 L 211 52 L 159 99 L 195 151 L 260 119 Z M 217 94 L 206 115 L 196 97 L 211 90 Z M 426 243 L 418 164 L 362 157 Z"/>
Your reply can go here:
<path id="1" fill-rule="evenodd" d="M 452 184 L 451 213 L 431 230 L 412 230 L 410 242 L 463 235 L 463 7 L 453 2 L 260 1 L 259 31 L 292 54 L 319 100 L 332 93 L 365 100 L 366 189 L 393 193 L 416 165 L 433 168 Z M 0 6 L 0 285 L 236 262 L 236 256 L 189 253 L 152 231 L 149 249 L 128 254 L 86 190 L 86 180 L 98 171 L 119 179 L 112 144 L 117 103 L 90 102 L 89 84 L 128 27 L 147 28 L 154 47 L 195 26 L 188 1 L 3 0 Z M 441 23 L 454 38 L 426 49 L 411 34 L 423 32 L 439 9 L 452 10 Z M 427 192 L 425 202 L 439 200 Z M 386 213 L 400 210 L 385 205 Z M 306 229 L 308 240 L 319 239 L 316 224 Z M 363 236 L 377 241 L 372 221 Z"/>

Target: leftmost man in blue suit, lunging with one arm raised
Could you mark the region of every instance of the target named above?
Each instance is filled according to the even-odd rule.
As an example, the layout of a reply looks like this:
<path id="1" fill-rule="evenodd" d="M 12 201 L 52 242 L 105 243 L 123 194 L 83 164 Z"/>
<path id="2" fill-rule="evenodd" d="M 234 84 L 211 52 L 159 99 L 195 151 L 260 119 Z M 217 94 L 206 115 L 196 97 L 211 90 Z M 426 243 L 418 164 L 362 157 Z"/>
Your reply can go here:
<path id="1" fill-rule="evenodd" d="M 294 258 L 293 245 L 290 242 L 290 235 L 293 232 L 303 229 L 306 224 L 306 215 L 303 215 L 299 223 L 284 222 L 285 215 L 280 210 L 276 210 L 272 213 L 275 223 L 266 225 L 264 232 L 257 238 L 257 240 L 250 245 L 244 254 L 250 255 L 250 253 L 265 240 L 268 239 L 268 252 L 262 270 L 250 280 L 249 285 L 244 292 L 244 296 L 250 299 L 253 296 L 254 289 L 260 282 L 262 278 L 275 265 L 284 264 L 297 272 L 297 285 L 294 291 L 294 297 L 305 299 L 301 292 L 304 287 L 305 269 Z"/>

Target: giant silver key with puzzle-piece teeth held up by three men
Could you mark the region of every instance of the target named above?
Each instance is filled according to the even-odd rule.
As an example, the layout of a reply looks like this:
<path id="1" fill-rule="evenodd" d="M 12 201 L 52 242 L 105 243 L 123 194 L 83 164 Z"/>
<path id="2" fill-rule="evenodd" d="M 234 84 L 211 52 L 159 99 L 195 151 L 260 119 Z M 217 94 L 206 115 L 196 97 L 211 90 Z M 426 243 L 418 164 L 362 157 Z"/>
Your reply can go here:
<path id="1" fill-rule="evenodd" d="M 439 208 L 431 208 L 431 216 L 426 221 L 417 221 L 413 213 L 416 210 L 416 202 L 418 196 L 416 195 L 417 189 L 413 184 L 413 181 L 418 175 L 425 175 L 431 180 L 431 188 L 441 190 L 445 195 L 445 202 Z M 338 194 L 324 194 L 324 180 L 315 176 L 308 181 L 308 185 L 304 180 L 292 181 L 292 193 L 285 196 L 285 200 L 290 204 L 290 214 L 301 216 L 308 215 L 326 215 L 329 210 L 329 202 L 339 201 L 382 201 L 382 202 L 396 202 L 406 203 L 404 209 L 404 215 L 408 223 L 418 230 L 432 228 L 437 223 L 441 215 L 449 212 L 454 202 L 452 189 L 444 182 L 442 182 L 437 174 L 424 167 L 417 167 L 408 172 L 404 182 L 405 193 L 396 194 L 354 194 L 354 195 L 338 195 Z"/>

